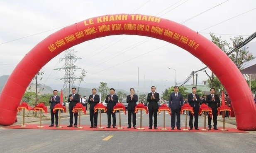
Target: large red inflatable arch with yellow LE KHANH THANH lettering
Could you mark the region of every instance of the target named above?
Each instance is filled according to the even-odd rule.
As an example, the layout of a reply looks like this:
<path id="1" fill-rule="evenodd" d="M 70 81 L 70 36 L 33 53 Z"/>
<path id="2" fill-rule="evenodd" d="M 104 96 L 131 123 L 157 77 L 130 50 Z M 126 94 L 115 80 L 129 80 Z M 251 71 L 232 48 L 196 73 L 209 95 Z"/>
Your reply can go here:
<path id="1" fill-rule="evenodd" d="M 190 28 L 156 16 L 114 14 L 67 26 L 39 42 L 16 66 L 0 95 L 0 125 L 12 125 L 17 106 L 38 71 L 56 55 L 87 40 L 108 35 L 143 35 L 175 44 L 200 59 L 219 78 L 234 107 L 237 128 L 256 130 L 253 95 L 236 65 L 207 38 Z"/>

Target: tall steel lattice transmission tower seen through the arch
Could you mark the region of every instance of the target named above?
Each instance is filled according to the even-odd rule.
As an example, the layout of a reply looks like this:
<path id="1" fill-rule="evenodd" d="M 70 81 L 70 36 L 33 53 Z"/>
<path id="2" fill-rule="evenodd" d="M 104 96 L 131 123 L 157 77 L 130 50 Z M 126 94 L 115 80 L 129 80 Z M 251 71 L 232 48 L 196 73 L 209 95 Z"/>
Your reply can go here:
<path id="1" fill-rule="evenodd" d="M 71 93 L 71 88 L 73 87 L 74 81 L 76 81 L 76 79 L 79 79 L 78 77 L 76 77 L 74 75 L 74 73 L 77 69 L 81 69 L 75 65 L 75 62 L 78 59 L 80 59 L 75 55 L 75 53 L 76 53 L 75 49 L 67 49 L 65 51 L 65 57 L 61 59 L 61 61 L 63 61 L 63 59 L 65 60 L 65 65 L 62 66 L 61 68 L 54 69 L 54 70 L 59 70 L 59 71 L 65 70 L 64 77 L 59 78 L 60 80 L 64 79 L 63 94 L 66 93 L 67 89 L 68 89 L 68 94 Z"/>

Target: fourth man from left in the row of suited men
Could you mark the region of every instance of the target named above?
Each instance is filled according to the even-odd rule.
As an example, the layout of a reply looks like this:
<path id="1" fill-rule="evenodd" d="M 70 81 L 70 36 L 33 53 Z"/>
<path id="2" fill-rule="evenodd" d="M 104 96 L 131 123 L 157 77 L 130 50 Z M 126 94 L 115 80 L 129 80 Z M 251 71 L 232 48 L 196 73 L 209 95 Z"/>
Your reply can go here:
<path id="1" fill-rule="evenodd" d="M 116 128 L 116 113 L 113 113 L 113 107 L 118 103 L 118 96 L 115 95 L 115 89 L 110 89 L 110 94 L 107 95 L 105 103 L 107 104 L 107 128 L 111 126 L 111 115 L 113 118 L 113 128 Z"/>

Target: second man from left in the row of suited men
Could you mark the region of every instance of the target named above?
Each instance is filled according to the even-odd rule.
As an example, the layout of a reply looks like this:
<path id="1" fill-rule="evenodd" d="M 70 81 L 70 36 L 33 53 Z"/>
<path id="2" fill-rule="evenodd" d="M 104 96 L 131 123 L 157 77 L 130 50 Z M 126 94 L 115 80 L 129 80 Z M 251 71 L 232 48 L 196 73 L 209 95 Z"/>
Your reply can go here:
<path id="1" fill-rule="evenodd" d="M 79 103 L 80 98 L 79 98 L 79 94 L 76 93 L 76 88 L 72 88 L 72 94 L 70 94 L 68 96 L 68 102 L 69 102 L 69 125 L 68 127 L 72 127 L 73 126 L 73 115 L 75 116 L 75 123 L 74 123 L 74 127 L 77 126 L 77 116 L 78 113 L 73 113 L 73 107 L 76 106 L 77 103 Z"/>

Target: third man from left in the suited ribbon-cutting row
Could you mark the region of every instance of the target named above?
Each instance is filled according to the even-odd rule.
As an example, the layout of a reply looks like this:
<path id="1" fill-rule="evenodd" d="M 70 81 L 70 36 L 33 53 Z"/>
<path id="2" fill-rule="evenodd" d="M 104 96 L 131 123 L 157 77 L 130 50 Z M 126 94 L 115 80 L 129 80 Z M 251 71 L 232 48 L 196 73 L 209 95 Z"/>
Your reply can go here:
<path id="1" fill-rule="evenodd" d="M 90 104 L 90 121 L 91 126 L 90 128 L 97 127 L 98 123 L 98 112 L 94 113 L 94 106 L 100 102 L 100 96 L 96 94 L 97 90 L 95 88 L 92 89 L 93 94 L 89 96 L 88 103 Z M 93 126 L 93 118 L 94 118 L 94 126 Z"/>

